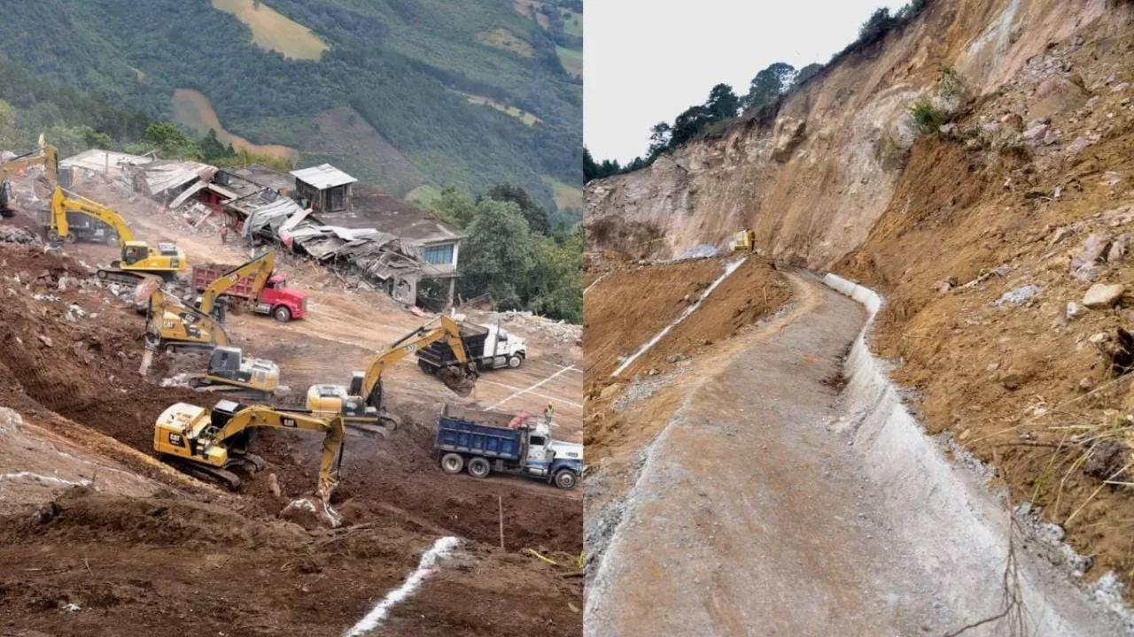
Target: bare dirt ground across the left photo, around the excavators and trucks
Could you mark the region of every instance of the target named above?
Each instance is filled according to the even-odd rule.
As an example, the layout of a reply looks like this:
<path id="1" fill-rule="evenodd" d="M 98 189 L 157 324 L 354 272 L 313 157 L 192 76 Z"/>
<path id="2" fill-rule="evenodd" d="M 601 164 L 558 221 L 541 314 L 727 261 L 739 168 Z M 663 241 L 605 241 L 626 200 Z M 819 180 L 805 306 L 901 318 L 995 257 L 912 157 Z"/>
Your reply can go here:
<path id="1" fill-rule="evenodd" d="M 191 263 L 246 258 L 210 231 L 194 235 L 112 187 L 87 184 L 82 193 L 124 213 L 141 238 L 176 240 Z M 0 452 L 0 474 L 65 481 L 23 475 L 0 482 L 0 632 L 340 635 L 401 584 L 434 540 L 456 535 L 464 543 L 455 557 L 395 606 L 383 635 L 579 634 L 579 491 L 509 476 L 447 476 L 431 455 L 443 401 L 530 411 L 551 401 L 555 434 L 581 440 L 582 356 L 573 341 L 524 321 L 502 323 L 528 340 L 532 356 L 519 370 L 485 372 L 468 399 L 413 360 L 395 366 L 386 397 L 403 428 L 384 441 L 348 436 L 335 494 L 348 524 L 305 532 L 277 515 L 290 499 L 312 493 L 320 438 L 262 432 L 256 451 L 269 467 L 237 494 L 154 459 L 161 410 L 213 400 L 158 383 L 203 357 L 159 356 L 150 377 L 139 376 L 143 318 L 93 281 L 83 283 L 83 264 L 109 262 L 116 250 L 74 245 L 67 253 L 0 245 L 0 406 L 24 416 L 19 435 L 31 436 L 29 447 L 69 458 L 58 473 L 45 473 L 52 461 L 32 450 Z M 426 320 L 381 294 L 342 290 L 308 264 L 281 258 L 278 270 L 308 294 L 310 317 L 280 324 L 234 315 L 227 326 L 248 355 L 280 365 L 281 382 L 293 390 L 282 404 L 302 402 L 308 384 L 346 382 L 375 350 Z M 82 610 L 62 610 L 67 604 Z"/>

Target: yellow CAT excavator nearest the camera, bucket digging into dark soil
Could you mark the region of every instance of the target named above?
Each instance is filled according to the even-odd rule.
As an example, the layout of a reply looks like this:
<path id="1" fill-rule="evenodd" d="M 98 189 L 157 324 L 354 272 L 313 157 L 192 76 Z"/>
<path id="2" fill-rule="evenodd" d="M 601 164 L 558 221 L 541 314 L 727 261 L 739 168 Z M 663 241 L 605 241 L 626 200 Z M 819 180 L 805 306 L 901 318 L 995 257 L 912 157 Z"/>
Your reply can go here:
<path id="1" fill-rule="evenodd" d="M 187 402 L 170 406 L 158 418 L 153 449 L 167 462 L 201 479 L 219 481 L 231 490 L 240 486 L 232 469 L 255 474 L 264 468 L 262 458 L 248 447 L 259 427 L 322 432 L 323 456 L 319 466 L 316 493 L 330 502 L 341 464 L 342 418 L 337 414 L 312 414 L 302 409 L 281 409 L 266 405 L 245 406 L 221 400 L 211 409 Z"/>

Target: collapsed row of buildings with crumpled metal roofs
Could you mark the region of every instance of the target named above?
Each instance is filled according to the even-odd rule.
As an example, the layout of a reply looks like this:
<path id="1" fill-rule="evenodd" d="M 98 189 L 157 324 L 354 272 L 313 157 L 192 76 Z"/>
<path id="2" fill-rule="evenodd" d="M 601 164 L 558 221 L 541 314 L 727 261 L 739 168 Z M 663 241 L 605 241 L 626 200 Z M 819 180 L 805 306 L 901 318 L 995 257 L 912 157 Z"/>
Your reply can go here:
<path id="1" fill-rule="evenodd" d="M 210 221 L 248 241 L 282 246 L 405 305 L 417 303 L 422 281 L 437 283 L 429 300 L 452 305 L 464 235 L 330 164 L 287 173 L 119 154 L 87 151 L 62 163 L 128 184 L 194 227 Z"/>

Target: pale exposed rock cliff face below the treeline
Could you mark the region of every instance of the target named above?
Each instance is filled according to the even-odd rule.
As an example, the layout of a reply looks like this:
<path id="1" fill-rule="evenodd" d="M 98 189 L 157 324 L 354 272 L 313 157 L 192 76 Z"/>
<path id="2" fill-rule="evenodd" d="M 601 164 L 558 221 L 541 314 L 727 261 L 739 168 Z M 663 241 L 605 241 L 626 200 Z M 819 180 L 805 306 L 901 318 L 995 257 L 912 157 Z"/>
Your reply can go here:
<path id="1" fill-rule="evenodd" d="M 966 94 L 987 95 L 1105 10 L 1106 0 L 932 2 L 907 28 L 809 80 L 775 117 L 748 113 L 721 138 L 589 184 L 589 245 L 624 248 L 649 229 L 663 237 L 651 256 L 671 258 L 700 245 L 723 247 L 752 228 L 771 256 L 828 267 L 866 239 L 889 205 L 916 138 L 909 105 L 929 97 L 934 108 L 959 108 L 956 94 L 933 93 L 941 68 L 955 69 Z M 1042 119 L 1082 108 L 1090 91 L 1074 73 L 1043 73 L 1050 79 L 1031 103 L 990 125 L 1002 129 L 992 131 L 1004 135 L 996 143 L 1010 145 L 1031 129 L 1036 144 L 1057 147 Z M 620 224 L 636 230 L 619 232 Z"/>

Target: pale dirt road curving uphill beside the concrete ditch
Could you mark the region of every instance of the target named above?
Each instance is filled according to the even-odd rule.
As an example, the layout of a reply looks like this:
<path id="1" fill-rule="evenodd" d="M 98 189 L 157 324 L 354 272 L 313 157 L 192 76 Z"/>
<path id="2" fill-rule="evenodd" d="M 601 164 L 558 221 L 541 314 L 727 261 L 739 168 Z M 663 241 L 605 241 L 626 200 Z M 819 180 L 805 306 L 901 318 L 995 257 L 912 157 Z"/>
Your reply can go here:
<path id="1" fill-rule="evenodd" d="M 864 312 L 810 278 L 789 279 L 795 311 L 714 357 L 650 449 L 587 586 L 586 635 L 950 625 L 932 574 L 891 532 L 895 520 L 875 517 L 885 494 L 828 431 L 839 414 L 832 380 Z"/>

